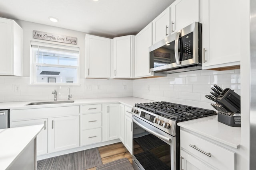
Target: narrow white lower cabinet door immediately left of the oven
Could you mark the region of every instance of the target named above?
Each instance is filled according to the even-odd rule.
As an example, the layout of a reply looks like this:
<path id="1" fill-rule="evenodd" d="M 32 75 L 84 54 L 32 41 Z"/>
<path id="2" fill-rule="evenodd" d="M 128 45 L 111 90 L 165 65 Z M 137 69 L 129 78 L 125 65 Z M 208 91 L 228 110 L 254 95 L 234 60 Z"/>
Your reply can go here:
<path id="1" fill-rule="evenodd" d="M 132 115 L 125 115 L 125 147 L 132 154 Z"/>

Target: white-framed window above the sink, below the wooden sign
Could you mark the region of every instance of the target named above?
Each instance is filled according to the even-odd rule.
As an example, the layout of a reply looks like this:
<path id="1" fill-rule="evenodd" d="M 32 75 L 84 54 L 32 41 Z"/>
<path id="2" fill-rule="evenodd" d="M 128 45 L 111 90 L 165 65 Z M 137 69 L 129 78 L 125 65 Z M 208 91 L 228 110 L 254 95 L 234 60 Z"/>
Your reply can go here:
<path id="1" fill-rule="evenodd" d="M 31 41 L 30 84 L 78 84 L 79 48 Z"/>

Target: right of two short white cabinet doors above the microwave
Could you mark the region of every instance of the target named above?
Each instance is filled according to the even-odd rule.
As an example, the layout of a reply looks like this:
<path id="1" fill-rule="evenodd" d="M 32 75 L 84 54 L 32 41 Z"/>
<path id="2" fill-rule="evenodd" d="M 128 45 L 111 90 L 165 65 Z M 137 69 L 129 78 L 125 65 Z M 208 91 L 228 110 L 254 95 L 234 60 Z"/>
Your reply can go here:
<path id="1" fill-rule="evenodd" d="M 203 0 L 202 0 L 203 1 Z M 199 0 L 176 0 L 171 7 L 171 33 L 199 22 Z"/>

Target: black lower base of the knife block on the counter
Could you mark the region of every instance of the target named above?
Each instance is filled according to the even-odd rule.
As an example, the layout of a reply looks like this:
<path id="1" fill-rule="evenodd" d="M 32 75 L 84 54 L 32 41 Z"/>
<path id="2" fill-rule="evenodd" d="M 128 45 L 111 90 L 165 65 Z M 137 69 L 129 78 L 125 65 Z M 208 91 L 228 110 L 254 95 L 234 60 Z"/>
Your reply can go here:
<path id="1" fill-rule="evenodd" d="M 238 111 L 229 115 L 228 113 L 218 111 L 218 121 L 228 126 L 241 127 L 241 113 Z"/>

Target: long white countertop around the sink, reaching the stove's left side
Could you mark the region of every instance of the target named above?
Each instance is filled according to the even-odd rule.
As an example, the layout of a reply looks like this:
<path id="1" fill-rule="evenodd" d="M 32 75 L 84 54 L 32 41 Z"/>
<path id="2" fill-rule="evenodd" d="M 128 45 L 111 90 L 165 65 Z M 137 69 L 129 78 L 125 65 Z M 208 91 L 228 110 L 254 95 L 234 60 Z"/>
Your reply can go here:
<path id="1" fill-rule="evenodd" d="M 59 100 L 62 101 L 62 100 Z M 32 102 L 46 102 L 46 101 L 25 101 L 25 102 L 1 102 L 0 109 L 32 109 L 42 107 L 58 107 L 58 106 L 75 106 L 81 104 L 102 104 L 102 103 L 121 103 L 126 106 L 132 107 L 136 103 L 155 102 L 152 100 L 146 100 L 135 97 L 121 97 L 121 98 L 93 98 L 93 99 L 74 99 L 74 103 L 68 104 L 43 104 L 43 105 L 31 105 L 26 106 Z M 54 102 L 53 100 L 48 102 Z"/>

